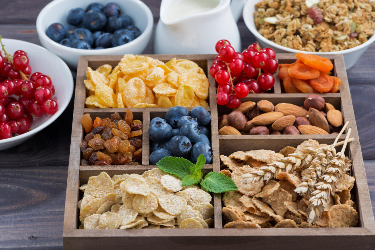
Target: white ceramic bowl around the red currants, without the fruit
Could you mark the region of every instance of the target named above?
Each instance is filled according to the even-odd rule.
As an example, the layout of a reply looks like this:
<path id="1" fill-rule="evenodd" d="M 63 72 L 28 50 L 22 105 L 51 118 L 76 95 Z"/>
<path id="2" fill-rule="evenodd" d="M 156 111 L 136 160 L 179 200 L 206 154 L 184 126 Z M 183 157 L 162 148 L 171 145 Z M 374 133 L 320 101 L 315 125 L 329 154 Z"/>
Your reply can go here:
<path id="1" fill-rule="evenodd" d="M 3 150 L 14 147 L 30 139 L 33 135 L 47 127 L 62 114 L 72 98 L 73 76 L 64 61 L 45 48 L 33 43 L 14 39 L 3 38 L 1 41 L 3 42 L 6 51 L 11 55 L 19 49 L 27 52 L 33 73 L 42 72 L 51 76 L 52 83 L 55 87 L 55 95 L 53 96 L 53 99 L 58 103 L 58 111 L 55 114 L 45 114 L 41 117 L 35 117 L 29 132 L 0 140 L 0 150 Z M 18 99 L 18 96 L 15 97 Z"/>

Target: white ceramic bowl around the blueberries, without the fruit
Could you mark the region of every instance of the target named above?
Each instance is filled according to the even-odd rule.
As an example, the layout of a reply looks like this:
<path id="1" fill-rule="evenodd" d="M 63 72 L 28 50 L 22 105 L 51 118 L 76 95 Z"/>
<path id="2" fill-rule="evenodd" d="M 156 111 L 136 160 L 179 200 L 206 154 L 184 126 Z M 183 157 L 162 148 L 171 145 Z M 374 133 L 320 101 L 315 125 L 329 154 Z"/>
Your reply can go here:
<path id="1" fill-rule="evenodd" d="M 129 15 L 142 34 L 133 41 L 121 46 L 108 49 L 74 49 L 60 45 L 49 39 L 45 31 L 49 25 L 54 22 L 60 22 L 62 25 L 68 24 L 66 16 L 71 9 L 86 7 L 95 2 L 94 0 L 54 0 L 47 4 L 39 13 L 36 19 L 36 30 L 40 43 L 46 49 L 57 54 L 72 68 L 77 68 L 78 57 L 81 55 L 124 55 L 128 53 L 142 54 L 151 38 L 154 19 L 151 10 L 140 0 L 101 0 L 98 1 L 105 5 L 109 2 L 115 2 L 120 6 L 121 13 Z"/>

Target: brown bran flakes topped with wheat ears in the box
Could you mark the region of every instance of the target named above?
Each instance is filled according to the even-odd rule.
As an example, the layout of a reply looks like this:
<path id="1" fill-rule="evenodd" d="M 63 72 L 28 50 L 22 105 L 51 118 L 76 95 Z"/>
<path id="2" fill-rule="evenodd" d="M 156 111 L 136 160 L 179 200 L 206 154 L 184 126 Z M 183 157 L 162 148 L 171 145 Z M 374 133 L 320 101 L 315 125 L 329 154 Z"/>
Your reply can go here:
<path id="1" fill-rule="evenodd" d="M 224 228 L 357 225 L 356 204 L 350 193 L 355 179 L 348 174 L 351 161 L 340 152 L 335 153 L 335 147 L 309 139 L 297 148 L 285 147 L 279 153 L 237 151 L 229 156 L 221 155 L 220 159 L 224 168 L 221 172 L 231 177 L 238 187 L 238 191 L 223 195 Z M 334 166 L 341 168 L 341 176 L 330 175 Z M 326 190 L 321 188 L 327 176 L 335 183 L 332 193 L 324 193 Z M 325 195 L 327 200 L 321 199 L 323 206 L 319 206 L 317 199 Z"/>

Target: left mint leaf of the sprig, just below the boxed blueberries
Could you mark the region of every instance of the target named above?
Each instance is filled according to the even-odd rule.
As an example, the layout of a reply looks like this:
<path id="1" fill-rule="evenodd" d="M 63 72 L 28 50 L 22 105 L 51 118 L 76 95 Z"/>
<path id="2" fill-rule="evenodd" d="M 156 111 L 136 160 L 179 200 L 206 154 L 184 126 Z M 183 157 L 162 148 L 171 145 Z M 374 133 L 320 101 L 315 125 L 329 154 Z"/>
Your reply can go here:
<path id="1" fill-rule="evenodd" d="M 167 172 L 168 174 L 177 175 L 181 179 L 185 178 L 186 175 L 190 174 L 190 168 L 193 168 L 194 163 L 186 160 L 182 157 L 168 156 L 159 160 L 156 163 L 160 170 Z"/>

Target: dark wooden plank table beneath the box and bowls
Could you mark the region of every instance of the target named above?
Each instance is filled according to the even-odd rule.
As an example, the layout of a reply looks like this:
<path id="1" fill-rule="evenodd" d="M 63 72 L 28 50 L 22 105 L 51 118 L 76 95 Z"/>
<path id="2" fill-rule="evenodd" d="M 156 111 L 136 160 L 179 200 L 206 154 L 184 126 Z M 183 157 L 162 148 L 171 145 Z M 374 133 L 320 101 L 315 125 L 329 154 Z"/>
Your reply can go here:
<path id="1" fill-rule="evenodd" d="M 35 21 L 49 0 L 0 0 L 0 34 L 40 45 Z M 159 20 L 160 0 L 144 0 Z M 242 47 L 255 42 L 242 19 Z M 22 49 L 22 48 L 20 48 Z M 152 54 L 152 38 L 144 54 Z M 375 211 L 375 43 L 348 70 L 372 207 Z M 65 112 L 27 142 L 0 151 L 0 249 L 62 249 L 73 116 Z"/>

